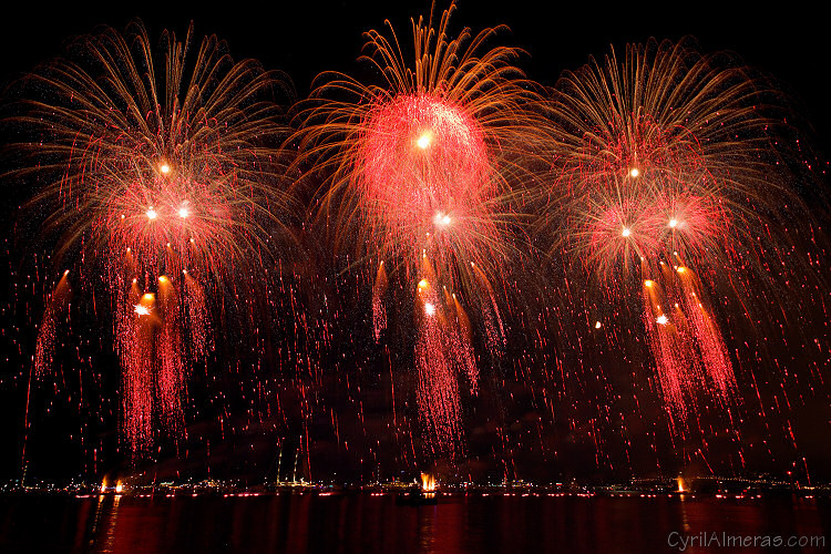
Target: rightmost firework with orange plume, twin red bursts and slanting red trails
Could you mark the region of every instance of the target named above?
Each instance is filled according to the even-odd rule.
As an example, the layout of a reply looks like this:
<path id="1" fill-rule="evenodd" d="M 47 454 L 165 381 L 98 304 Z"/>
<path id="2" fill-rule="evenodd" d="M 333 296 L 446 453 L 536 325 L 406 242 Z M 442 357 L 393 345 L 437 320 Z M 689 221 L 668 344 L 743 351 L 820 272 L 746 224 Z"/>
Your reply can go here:
<path id="1" fill-rule="evenodd" d="M 751 74 L 688 41 L 650 40 L 564 73 L 553 91 L 542 225 L 604 291 L 640 299 L 671 425 L 694 386 L 721 400 L 736 388 L 709 298 L 747 298 L 760 275 L 772 284 L 767 259 L 793 244 L 786 222 L 801 203 L 770 138 L 781 95 Z"/>

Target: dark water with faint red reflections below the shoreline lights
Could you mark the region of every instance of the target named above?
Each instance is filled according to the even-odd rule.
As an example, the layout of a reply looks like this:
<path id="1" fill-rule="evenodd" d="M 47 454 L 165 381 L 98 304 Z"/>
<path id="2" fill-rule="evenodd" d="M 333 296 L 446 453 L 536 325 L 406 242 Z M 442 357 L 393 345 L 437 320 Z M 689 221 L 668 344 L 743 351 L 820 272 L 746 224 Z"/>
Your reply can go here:
<path id="1" fill-rule="evenodd" d="M 777 536 L 783 546 L 774 546 Z M 799 547 L 800 537 L 817 536 L 829 540 L 825 547 Z M 736 547 L 737 540 L 748 545 Z M 2 553 L 827 550 L 829 500 L 459 494 L 399 506 L 393 495 L 370 494 L 0 496 Z"/>

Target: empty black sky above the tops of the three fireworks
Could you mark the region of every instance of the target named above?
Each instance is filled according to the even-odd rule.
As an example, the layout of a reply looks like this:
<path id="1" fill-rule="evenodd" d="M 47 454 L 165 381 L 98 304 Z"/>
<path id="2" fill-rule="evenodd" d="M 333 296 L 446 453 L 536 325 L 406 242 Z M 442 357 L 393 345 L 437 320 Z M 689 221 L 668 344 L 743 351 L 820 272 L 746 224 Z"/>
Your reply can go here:
<path id="1" fill-rule="evenodd" d="M 123 28 L 140 17 L 157 35 L 166 28 L 183 33 L 193 20 L 197 35 L 216 33 L 228 41 L 235 58 L 256 58 L 268 69 L 286 71 L 304 95 L 318 72 L 355 68 L 362 31 L 382 27 L 384 19 L 406 29 L 411 17 L 429 12 L 429 0 L 18 2 L 0 21 L 0 75 L 6 81 L 29 70 L 58 54 L 69 37 L 96 24 Z M 461 0 L 453 24 L 474 30 L 509 25 L 504 42 L 530 52 L 521 65 L 543 84 L 553 84 L 563 70 L 585 63 L 589 54 L 605 53 L 609 44 L 694 35 L 704 51 L 731 50 L 782 80 L 807 105 L 821 142 L 829 143 L 824 83 L 831 44 L 823 18 L 799 4 Z"/>

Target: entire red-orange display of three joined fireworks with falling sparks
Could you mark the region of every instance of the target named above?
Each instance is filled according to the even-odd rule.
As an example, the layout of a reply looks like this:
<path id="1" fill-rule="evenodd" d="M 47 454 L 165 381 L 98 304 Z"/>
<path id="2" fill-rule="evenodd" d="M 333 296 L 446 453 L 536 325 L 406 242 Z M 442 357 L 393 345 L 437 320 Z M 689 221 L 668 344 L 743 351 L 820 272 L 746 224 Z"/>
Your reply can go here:
<path id="1" fill-rule="evenodd" d="M 339 444 L 321 383 L 342 382 L 404 465 L 463 464 L 474 431 L 505 473 L 519 450 L 556 459 L 564 432 L 598 466 L 630 463 L 638 435 L 656 460 L 668 443 L 732 471 L 780 455 L 746 433 L 787 434 L 796 455 L 792 413 L 828 404 L 829 288 L 803 194 L 825 185 L 791 99 L 690 39 L 613 48 L 544 86 L 504 28 L 453 32 L 454 11 L 367 32 L 375 80 L 321 73 L 300 100 L 216 37 L 156 44 L 137 21 L 14 83 L 3 181 L 31 219 L 14 238 L 51 260 L 19 345 L 24 432 L 39 388 L 95 365 L 65 347 L 94 305 L 119 360 L 95 371 L 120 373 L 135 460 L 185 440 L 195 367 L 270 388 L 243 409 L 260 421 L 290 389 Z M 255 371 L 228 375 L 240 358 Z M 356 366 L 389 371 L 387 430 L 363 419 Z M 512 424 L 519 389 L 533 418 Z M 308 424 L 291 432 L 308 454 Z"/>

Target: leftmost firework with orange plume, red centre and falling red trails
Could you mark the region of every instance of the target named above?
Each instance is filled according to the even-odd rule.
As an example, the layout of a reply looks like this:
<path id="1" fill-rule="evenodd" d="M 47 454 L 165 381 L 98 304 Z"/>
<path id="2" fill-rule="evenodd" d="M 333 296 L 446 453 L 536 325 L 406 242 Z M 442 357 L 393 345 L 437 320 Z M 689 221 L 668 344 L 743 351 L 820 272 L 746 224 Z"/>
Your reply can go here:
<path id="1" fill-rule="evenodd" d="M 215 37 L 188 60 L 192 34 L 165 32 L 158 52 L 141 22 L 82 37 L 21 81 L 9 120 L 29 138 L 14 176 L 45 182 L 33 203 L 60 250 L 107 281 L 134 450 L 154 418 L 181 420 L 185 369 L 211 345 L 208 287 L 263 263 L 290 204 L 273 182 L 285 80 Z"/>

